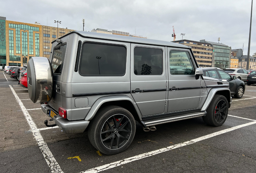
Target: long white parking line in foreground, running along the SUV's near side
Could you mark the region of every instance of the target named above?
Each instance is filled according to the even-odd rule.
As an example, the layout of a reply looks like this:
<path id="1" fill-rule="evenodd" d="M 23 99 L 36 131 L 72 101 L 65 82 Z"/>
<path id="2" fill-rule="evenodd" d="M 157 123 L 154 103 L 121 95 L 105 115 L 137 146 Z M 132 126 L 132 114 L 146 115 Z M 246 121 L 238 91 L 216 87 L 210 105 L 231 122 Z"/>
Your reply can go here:
<path id="1" fill-rule="evenodd" d="M 157 149 L 155 151 L 151 151 L 151 152 L 148 152 L 148 153 L 136 155 L 136 156 L 133 156 L 133 157 L 129 157 L 127 159 L 123 159 L 123 160 L 120 160 L 120 161 L 116 161 L 116 162 L 113 162 L 113 163 L 109 163 L 109 164 L 106 164 L 106 165 L 102 165 L 102 166 L 99 166 L 99 167 L 88 169 L 87 171 L 80 172 L 80 173 L 98 173 L 98 172 L 101 172 L 101 171 L 105 171 L 107 169 L 111 169 L 111 168 L 114 168 L 114 167 L 124 165 L 126 163 L 130 163 L 130 162 L 137 161 L 137 160 L 140 160 L 140 159 L 144 159 L 146 157 L 157 155 L 157 154 L 160 154 L 160 153 L 163 153 L 163 152 L 166 152 L 166 151 L 170 151 L 170 150 L 173 150 L 173 149 L 184 147 L 184 146 L 187 146 L 187 145 L 190 145 L 190 144 L 193 144 L 193 143 L 205 140 L 205 139 L 209 139 L 209 138 L 215 137 L 217 135 L 221 135 L 223 133 L 234 131 L 234 130 L 242 128 L 242 127 L 253 125 L 253 124 L 256 124 L 256 121 L 251 122 L 251 123 L 246 123 L 246 124 L 243 124 L 243 125 L 239 125 L 239 126 L 235 126 L 235 127 L 231 127 L 229 129 L 225 129 L 225 130 L 218 131 L 218 132 L 215 132 L 215 133 L 211 133 L 209 135 L 205 135 L 205 136 L 202 136 L 202 137 L 199 137 L 199 138 L 196 138 L 196 139 L 192 139 L 192 140 L 186 141 L 184 143 L 171 145 L 171 146 L 166 147 L 166 148 Z"/>

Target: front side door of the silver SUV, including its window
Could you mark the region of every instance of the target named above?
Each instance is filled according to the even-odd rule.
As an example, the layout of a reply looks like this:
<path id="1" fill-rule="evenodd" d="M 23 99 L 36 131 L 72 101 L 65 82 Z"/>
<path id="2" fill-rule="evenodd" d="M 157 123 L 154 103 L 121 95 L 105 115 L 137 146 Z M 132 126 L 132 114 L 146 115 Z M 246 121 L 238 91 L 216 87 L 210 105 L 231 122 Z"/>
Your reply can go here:
<path id="1" fill-rule="evenodd" d="M 169 59 L 168 112 L 196 110 L 201 78 L 196 79 L 196 62 L 188 49 L 167 48 Z"/>

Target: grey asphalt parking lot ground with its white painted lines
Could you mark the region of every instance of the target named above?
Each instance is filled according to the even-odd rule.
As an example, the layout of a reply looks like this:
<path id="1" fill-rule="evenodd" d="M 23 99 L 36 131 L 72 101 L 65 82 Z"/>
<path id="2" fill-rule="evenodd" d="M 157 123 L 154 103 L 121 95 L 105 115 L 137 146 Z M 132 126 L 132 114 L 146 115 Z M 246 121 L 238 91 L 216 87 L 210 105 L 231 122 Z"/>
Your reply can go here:
<path id="1" fill-rule="evenodd" d="M 256 84 L 246 85 L 242 99 L 233 98 L 221 127 L 208 126 L 201 117 L 157 125 L 150 132 L 138 124 L 130 147 L 110 156 L 91 145 L 87 132 L 46 127 L 43 122 L 50 118 L 17 84 L 0 72 L 0 173 L 256 170 Z"/>

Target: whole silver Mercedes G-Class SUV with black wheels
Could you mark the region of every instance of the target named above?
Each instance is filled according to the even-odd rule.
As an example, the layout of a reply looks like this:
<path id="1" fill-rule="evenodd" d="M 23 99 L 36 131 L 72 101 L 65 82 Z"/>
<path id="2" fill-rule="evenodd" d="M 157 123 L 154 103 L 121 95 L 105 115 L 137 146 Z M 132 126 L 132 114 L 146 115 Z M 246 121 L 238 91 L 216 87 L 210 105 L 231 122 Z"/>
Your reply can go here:
<path id="1" fill-rule="evenodd" d="M 27 65 L 30 99 L 65 133 L 88 129 L 107 155 L 129 147 L 135 120 L 145 131 L 194 117 L 222 125 L 229 83 L 202 75 L 188 46 L 82 31 L 54 40 L 49 60 Z"/>

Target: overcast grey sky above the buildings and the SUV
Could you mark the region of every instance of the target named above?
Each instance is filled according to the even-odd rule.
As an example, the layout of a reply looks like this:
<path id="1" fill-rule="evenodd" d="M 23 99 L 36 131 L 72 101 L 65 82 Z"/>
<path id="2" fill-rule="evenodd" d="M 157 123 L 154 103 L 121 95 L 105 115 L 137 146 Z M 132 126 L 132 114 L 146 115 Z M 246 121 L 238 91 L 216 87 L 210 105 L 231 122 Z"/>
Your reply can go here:
<path id="1" fill-rule="evenodd" d="M 251 0 L 0 0 L 6 20 L 60 28 L 102 28 L 172 41 L 218 42 L 248 54 Z M 256 2 L 252 13 L 250 55 L 256 52 Z"/>

